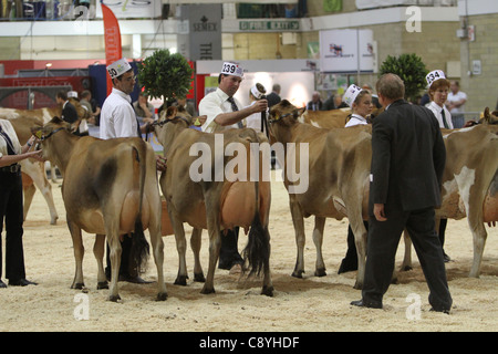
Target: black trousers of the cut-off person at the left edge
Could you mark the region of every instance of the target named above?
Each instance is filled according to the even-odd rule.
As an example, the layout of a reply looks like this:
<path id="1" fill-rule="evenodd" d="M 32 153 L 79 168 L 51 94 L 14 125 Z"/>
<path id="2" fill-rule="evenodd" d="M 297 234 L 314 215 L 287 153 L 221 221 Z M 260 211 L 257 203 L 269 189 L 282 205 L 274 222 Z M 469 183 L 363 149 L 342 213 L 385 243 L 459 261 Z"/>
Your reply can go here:
<path id="1" fill-rule="evenodd" d="M 0 235 L 6 222 L 6 278 L 12 281 L 25 279 L 22 247 L 23 208 L 21 171 L 0 171 Z M 0 239 L 0 278 L 2 275 L 2 242 Z"/>

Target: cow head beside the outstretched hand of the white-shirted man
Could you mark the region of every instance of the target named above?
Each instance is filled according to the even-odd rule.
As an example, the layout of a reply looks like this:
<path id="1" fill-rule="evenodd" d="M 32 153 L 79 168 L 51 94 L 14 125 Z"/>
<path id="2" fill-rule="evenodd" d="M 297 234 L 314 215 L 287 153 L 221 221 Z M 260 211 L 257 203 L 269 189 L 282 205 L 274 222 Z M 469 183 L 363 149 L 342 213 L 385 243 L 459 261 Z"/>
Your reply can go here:
<path id="1" fill-rule="evenodd" d="M 298 124 L 298 118 L 305 112 L 305 107 L 298 108 L 287 100 L 280 101 L 271 107 L 268 122 L 270 123 L 270 142 L 287 140 L 290 128 Z"/>

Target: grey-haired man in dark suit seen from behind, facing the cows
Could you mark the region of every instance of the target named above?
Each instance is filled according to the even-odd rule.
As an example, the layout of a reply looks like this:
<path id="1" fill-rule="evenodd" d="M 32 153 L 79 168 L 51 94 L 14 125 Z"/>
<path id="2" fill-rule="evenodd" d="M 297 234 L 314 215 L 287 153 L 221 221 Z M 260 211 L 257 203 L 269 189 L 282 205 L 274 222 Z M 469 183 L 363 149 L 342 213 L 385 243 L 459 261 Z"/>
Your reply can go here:
<path id="1" fill-rule="evenodd" d="M 439 125 L 427 108 L 403 100 L 403 81 L 383 75 L 377 93 L 385 112 L 372 127 L 370 225 L 362 300 L 351 304 L 382 309 L 406 228 L 421 261 L 434 311 L 449 313 L 452 296 L 443 248 L 435 231 L 446 149 Z"/>

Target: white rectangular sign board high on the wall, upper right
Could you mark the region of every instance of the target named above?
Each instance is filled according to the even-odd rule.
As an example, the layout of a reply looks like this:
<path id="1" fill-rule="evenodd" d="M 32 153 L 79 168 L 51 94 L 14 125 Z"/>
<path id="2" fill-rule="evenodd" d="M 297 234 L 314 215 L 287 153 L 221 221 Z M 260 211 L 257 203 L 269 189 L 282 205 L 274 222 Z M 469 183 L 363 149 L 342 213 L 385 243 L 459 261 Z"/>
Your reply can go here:
<path id="1" fill-rule="evenodd" d="M 372 30 L 320 31 L 321 72 L 373 72 L 374 48 Z"/>

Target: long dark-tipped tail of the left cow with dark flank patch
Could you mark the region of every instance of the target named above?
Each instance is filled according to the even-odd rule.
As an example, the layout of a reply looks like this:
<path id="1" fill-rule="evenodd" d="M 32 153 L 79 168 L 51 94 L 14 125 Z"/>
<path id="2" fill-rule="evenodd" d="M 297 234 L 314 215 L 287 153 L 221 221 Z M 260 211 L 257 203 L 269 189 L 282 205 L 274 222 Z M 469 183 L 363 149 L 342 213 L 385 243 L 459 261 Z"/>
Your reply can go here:
<path id="1" fill-rule="evenodd" d="M 147 149 L 145 146 L 133 146 L 134 150 L 134 174 L 139 174 L 139 205 L 138 205 L 138 215 L 135 220 L 135 232 L 132 233 L 132 249 L 131 257 L 133 260 L 132 268 L 135 268 L 136 275 L 144 273 L 147 268 L 147 261 L 149 256 L 149 244 L 147 239 L 145 238 L 144 227 L 142 225 L 142 205 L 144 199 L 144 189 L 145 189 L 145 175 L 147 168 L 146 154 Z"/>

